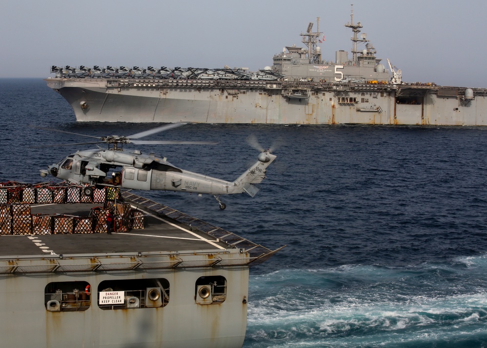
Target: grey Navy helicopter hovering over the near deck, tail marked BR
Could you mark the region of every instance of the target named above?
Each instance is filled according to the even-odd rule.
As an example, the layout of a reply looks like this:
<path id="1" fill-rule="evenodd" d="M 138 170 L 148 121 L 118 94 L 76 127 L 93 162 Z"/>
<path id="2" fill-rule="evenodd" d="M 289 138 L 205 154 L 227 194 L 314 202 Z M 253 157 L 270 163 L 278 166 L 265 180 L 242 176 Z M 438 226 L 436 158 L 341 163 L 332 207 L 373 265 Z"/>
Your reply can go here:
<path id="1" fill-rule="evenodd" d="M 165 190 L 211 194 L 215 197 L 220 209 L 226 208 L 220 200 L 224 194 L 248 193 L 254 197 L 259 184 L 265 178 L 267 167 L 276 159 L 271 150 L 261 149 L 257 161 L 235 181 L 225 181 L 211 176 L 189 172 L 170 164 L 166 157 L 154 153 L 143 154 L 139 150 L 128 153 L 124 151 L 125 144 L 216 144 L 208 141 L 165 141 L 139 140 L 142 137 L 179 127 L 184 123 L 168 124 L 148 131 L 129 136 L 110 135 L 97 137 L 79 133 L 72 133 L 58 129 L 39 129 L 68 133 L 73 135 L 96 138 L 97 141 L 71 144 L 56 144 L 49 146 L 108 144 L 108 149 L 97 145 L 98 149 L 77 151 L 68 155 L 58 163 L 41 169 L 40 176 L 48 174 L 83 186 L 83 193 L 91 196 L 95 187 L 119 187 L 135 190 Z M 108 174 L 112 171 L 112 177 Z"/>

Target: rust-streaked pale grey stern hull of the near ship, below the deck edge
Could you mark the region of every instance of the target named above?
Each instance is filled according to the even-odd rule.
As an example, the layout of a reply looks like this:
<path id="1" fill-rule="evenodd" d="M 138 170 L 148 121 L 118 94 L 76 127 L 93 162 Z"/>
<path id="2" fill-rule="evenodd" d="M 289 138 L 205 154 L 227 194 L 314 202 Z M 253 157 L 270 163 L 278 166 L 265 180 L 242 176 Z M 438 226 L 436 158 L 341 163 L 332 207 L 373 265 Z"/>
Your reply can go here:
<path id="1" fill-rule="evenodd" d="M 226 278 L 225 301 L 197 304 L 195 281 L 213 275 Z M 86 281 L 97 289 L 108 279 L 147 278 L 169 281 L 167 306 L 102 310 L 93 294 L 87 310 L 48 311 L 45 307 L 44 289 L 50 282 Z M 242 347 L 244 342 L 248 267 L 7 274 L 1 282 L 1 347 L 226 348 Z"/>

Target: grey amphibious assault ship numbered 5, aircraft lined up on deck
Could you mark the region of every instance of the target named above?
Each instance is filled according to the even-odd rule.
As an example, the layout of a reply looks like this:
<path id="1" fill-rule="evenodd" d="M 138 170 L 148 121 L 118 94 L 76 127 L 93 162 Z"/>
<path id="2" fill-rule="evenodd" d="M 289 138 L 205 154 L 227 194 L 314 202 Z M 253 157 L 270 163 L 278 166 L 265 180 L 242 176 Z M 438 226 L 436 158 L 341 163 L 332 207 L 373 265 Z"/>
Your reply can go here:
<path id="1" fill-rule="evenodd" d="M 487 89 L 403 82 L 359 35 L 353 11 L 351 57 L 340 50 L 325 61 L 318 26 L 300 34 L 306 47 L 285 47 L 258 72 L 53 66 L 47 85 L 78 121 L 487 125 Z"/>

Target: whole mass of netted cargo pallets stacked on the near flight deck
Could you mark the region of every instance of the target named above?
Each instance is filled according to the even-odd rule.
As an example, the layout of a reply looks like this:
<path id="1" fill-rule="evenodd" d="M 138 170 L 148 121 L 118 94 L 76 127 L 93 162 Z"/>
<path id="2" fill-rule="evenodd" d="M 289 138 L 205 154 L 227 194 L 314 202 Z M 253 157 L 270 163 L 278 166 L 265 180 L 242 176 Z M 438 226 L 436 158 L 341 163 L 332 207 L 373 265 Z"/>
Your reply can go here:
<path id="1" fill-rule="evenodd" d="M 116 200 L 107 201 L 108 196 Z M 104 207 L 93 208 L 89 216 L 31 213 L 31 204 L 53 203 L 102 203 Z M 113 232 L 144 228 L 143 213 L 133 213 L 131 205 L 123 201 L 119 188 L 95 188 L 93 196 L 86 196 L 83 186 L 65 182 L 0 183 L 0 235 L 106 233 L 109 211 L 114 215 Z"/>

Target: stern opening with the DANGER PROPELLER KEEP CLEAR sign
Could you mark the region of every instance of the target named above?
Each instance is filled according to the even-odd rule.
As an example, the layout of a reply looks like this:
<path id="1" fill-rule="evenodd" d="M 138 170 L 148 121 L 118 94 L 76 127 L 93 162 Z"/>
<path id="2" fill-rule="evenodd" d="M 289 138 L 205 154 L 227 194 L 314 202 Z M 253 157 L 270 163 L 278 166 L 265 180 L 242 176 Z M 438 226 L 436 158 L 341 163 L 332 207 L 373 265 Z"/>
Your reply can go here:
<path id="1" fill-rule="evenodd" d="M 165 307 L 169 281 L 155 279 L 104 280 L 98 285 L 98 307 L 104 310 Z"/>

